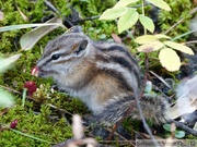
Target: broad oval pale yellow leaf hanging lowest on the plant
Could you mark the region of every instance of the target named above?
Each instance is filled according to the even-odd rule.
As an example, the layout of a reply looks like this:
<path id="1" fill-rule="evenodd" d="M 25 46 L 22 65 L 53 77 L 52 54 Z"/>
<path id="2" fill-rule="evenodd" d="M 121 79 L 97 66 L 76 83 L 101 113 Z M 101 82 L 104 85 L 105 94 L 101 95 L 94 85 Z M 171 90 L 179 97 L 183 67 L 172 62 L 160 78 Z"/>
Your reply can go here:
<path id="1" fill-rule="evenodd" d="M 162 66 L 164 66 L 167 71 L 175 72 L 179 70 L 181 60 L 176 51 L 170 48 L 164 48 L 160 51 L 159 59 Z"/>

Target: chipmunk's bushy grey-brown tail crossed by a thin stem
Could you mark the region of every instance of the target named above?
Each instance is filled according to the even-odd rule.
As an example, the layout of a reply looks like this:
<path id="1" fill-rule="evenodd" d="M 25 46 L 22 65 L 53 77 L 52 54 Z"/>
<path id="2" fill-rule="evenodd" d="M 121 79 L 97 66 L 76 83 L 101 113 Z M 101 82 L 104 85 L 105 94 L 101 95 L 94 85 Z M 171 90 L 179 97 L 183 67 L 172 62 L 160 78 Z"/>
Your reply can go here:
<path id="1" fill-rule="evenodd" d="M 120 119 L 124 119 L 127 113 L 129 113 L 128 115 L 132 119 L 141 120 L 134 97 L 131 98 L 130 96 L 126 96 L 118 101 L 116 99 L 109 102 L 111 105 L 107 103 L 100 113 L 96 113 L 93 117 L 94 122 L 100 121 L 105 125 L 113 125 Z M 166 113 L 169 103 L 163 97 L 144 96 L 140 99 L 140 106 L 144 118 L 152 121 L 154 124 L 161 124 L 169 120 Z"/>

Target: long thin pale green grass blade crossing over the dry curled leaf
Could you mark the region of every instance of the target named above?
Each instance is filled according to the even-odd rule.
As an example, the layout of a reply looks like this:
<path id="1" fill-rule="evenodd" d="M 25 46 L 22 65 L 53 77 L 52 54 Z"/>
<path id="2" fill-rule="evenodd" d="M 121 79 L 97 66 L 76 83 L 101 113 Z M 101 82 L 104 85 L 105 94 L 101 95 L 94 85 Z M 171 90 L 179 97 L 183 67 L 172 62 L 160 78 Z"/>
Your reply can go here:
<path id="1" fill-rule="evenodd" d="M 0 32 L 15 30 L 21 28 L 38 27 L 38 26 L 49 26 L 57 25 L 63 27 L 62 23 L 48 23 L 48 24 L 22 24 L 22 25 L 10 25 L 0 27 Z"/>

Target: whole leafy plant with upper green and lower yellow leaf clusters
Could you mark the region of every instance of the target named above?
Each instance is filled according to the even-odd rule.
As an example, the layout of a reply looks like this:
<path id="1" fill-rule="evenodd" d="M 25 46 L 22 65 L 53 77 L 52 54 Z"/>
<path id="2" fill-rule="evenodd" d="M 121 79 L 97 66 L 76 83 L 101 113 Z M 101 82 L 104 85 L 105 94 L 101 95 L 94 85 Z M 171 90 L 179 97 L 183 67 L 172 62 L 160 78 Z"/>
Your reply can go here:
<path id="1" fill-rule="evenodd" d="M 150 17 L 144 16 L 143 0 L 141 0 L 142 14 L 139 14 L 137 9 L 130 8 L 134 7 L 136 2 L 139 2 L 139 0 L 120 0 L 115 4 L 114 8 L 106 10 L 101 15 L 100 20 L 116 20 L 119 17 L 117 23 L 119 33 L 132 27 L 139 20 L 144 27 L 144 36 L 136 38 L 136 42 L 141 45 L 139 48 L 137 48 L 137 50 L 146 53 L 159 50 L 159 60 L 162 66 L 171 72 L 179 70 L 181 59 L 174 49 L 188 54 L 194 54 L 194 52 L 190 48 L 172 40 L 162 42 L 162 39 L 171 39 L 166 35 L 146 35 L 146 29 L 150 30 L 151 33 L 154 32 L 154 24 Z M 148 2 L 165 11 L 171 10 L 169 4 L 163 0 L 148 0 Z M 169 57 L 169 54 L 171 57 Z"/>

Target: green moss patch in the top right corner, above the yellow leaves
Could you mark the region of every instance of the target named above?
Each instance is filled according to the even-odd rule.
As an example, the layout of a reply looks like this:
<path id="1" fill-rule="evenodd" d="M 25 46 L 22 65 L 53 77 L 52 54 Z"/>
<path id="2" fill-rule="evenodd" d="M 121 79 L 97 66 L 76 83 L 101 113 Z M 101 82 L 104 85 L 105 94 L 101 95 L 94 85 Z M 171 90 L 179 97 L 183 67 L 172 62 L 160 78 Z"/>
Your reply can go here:
<path id="1" fill-rule="evenodd" d="M 161 29 L 163 32 L 171 28 L 174 24 L 176 24 L 181 19 L 185 19 L 182 23 L 179 23 L 175 28 L 173 28 L 167 35 L 173 37 L 176 37 L 178 35 L 182 35 L 184 33 L 187 33 L 189 30 L 189 20 L 190 15 L 189 12 L 195 7 L 192 1 L 189 0 L 166 0 L 165 1 L 172 9 L 172 11 L 164 11 L 162 10 L 159 14 L 159 22 Z M 188 38 L 188 36 L 185 36 L 181 38 L 182 41 L 185 41 Z"/>

